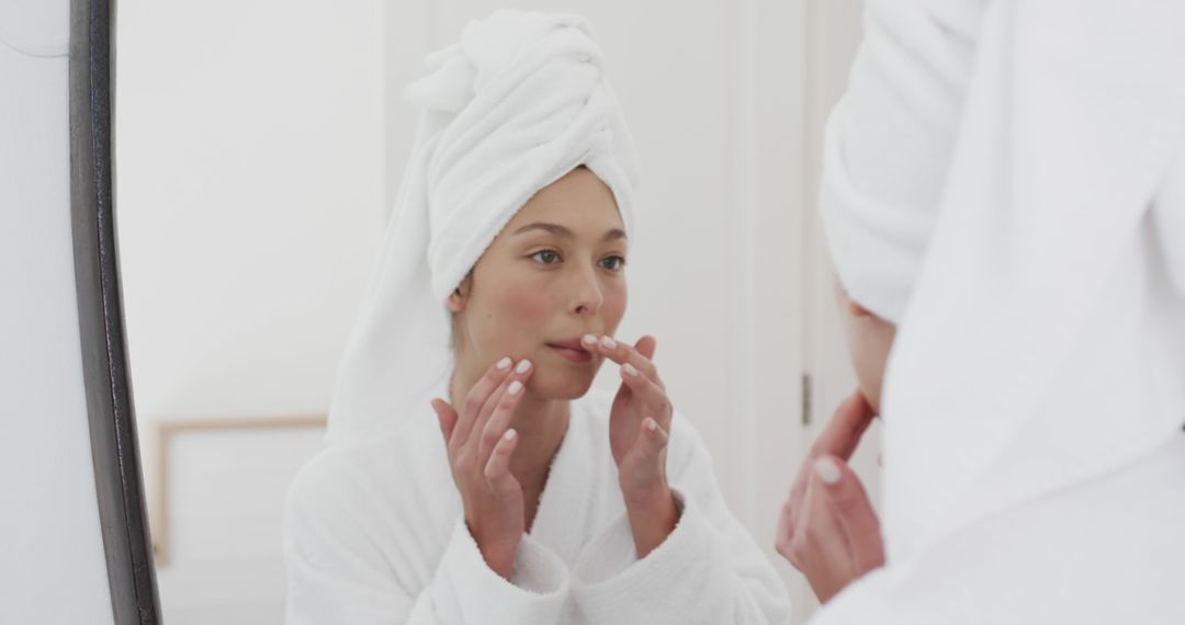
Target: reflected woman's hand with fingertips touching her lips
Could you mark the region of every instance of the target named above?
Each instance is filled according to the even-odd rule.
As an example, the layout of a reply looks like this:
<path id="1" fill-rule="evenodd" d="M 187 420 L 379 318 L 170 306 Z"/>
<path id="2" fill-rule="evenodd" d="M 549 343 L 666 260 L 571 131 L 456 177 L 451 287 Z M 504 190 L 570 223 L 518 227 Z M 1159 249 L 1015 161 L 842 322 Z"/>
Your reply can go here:
<path id="1" fill-rule="evenodd" d="M 609 446 L 634 533 L 638 556 L 662 543 L 679 520 L 666 477 L 666 449 L 674 408 L 651 360 L 658 341 L 634 346 L 611 337 L 584 337 L 584 347 L 620 365 L 621 388 L 609 413 Z"/>

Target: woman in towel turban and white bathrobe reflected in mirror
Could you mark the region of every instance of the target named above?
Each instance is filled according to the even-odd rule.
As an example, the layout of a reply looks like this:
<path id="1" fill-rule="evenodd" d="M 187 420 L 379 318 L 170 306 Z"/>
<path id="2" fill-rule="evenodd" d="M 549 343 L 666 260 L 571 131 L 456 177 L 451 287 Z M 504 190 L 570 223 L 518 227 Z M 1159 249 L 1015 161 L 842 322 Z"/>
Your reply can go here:
<path id="1" fill-rule="evenodd" d="M 635 159 L 591 30 L 499 12 L 430 60 L 337 444 L 289 492 L 288 621 L 781 623 L 654 339 L 613 339 Z"/>

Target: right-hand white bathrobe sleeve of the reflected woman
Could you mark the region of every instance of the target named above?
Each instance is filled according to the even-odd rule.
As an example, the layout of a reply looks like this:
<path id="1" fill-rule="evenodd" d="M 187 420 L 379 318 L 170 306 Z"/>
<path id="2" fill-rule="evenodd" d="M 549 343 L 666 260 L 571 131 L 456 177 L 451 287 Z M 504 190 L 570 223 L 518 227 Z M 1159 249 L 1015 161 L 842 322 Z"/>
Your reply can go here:
<path id="1" fill-rule="evenodd" d="M 679 415 L 668 453 L 674 531 L 638 560 L 628 518 L 611 522 L 572 569 L 577 608 L 594 625 L 786 623 L 782 579 L 725 507 L 706 447 Z"/>

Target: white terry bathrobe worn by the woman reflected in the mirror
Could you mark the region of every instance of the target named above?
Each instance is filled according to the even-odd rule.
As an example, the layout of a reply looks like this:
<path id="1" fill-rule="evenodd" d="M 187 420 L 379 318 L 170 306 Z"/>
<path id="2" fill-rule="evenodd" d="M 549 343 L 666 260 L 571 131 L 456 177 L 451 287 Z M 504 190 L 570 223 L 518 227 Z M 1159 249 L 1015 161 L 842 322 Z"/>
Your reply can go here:
<path id="1" fill-rule="evenodd" d="M 531 531 L 507 581 L 466 529 L 435 415 L 333 446 L 286 505 L 290 625 L 783 623 L 783 582 L 724 505 L 711 460 L 677 414 L 667 457 L 681 515 L 638 560 L 609 449 L 611 395 L 572 402 Z"/>

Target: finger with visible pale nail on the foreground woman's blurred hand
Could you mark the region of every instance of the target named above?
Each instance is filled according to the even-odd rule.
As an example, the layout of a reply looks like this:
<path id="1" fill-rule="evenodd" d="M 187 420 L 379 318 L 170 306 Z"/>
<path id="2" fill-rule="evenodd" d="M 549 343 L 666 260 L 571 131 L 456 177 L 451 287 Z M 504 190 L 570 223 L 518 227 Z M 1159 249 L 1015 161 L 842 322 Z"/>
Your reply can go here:
<path id="1" fill-rule="evenodd" d="M 880 521 L 872 509 L 872 502 L 859 476 L 847 463 L 831 456 L 819 458 L 814 472 L 822 482 L 824 491 L 831 500 L 832 509 L 835 510 L 840 527 L 847 536 L 857 573 L 884 565 Z"/>

